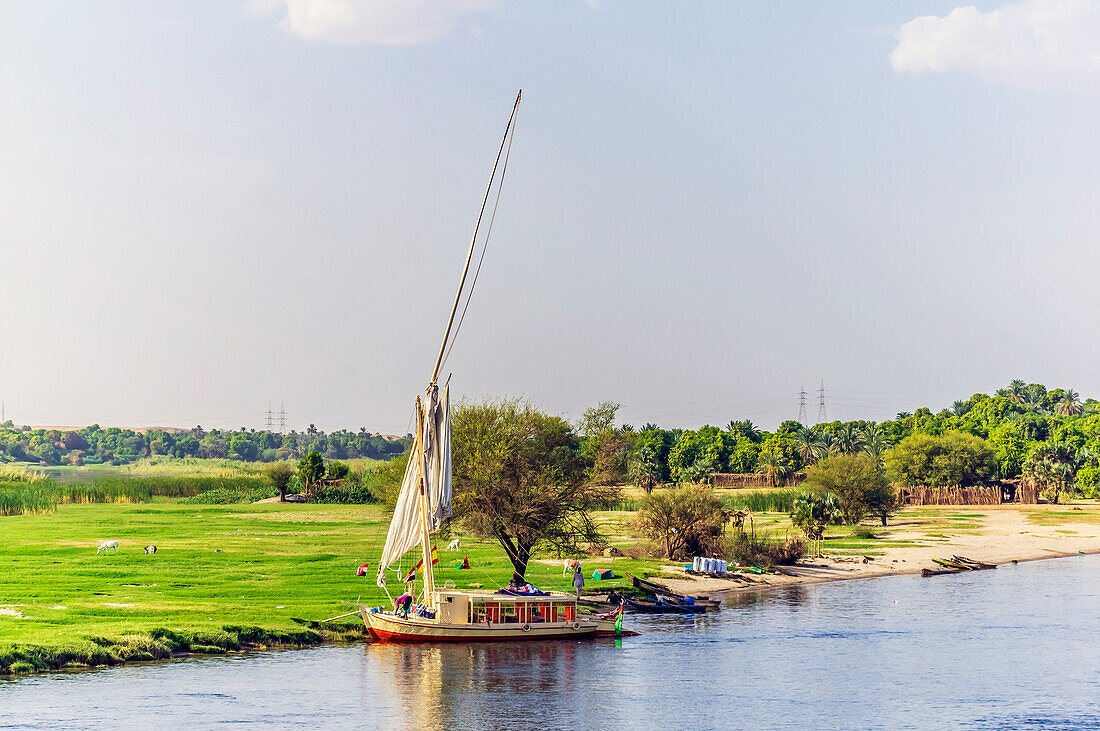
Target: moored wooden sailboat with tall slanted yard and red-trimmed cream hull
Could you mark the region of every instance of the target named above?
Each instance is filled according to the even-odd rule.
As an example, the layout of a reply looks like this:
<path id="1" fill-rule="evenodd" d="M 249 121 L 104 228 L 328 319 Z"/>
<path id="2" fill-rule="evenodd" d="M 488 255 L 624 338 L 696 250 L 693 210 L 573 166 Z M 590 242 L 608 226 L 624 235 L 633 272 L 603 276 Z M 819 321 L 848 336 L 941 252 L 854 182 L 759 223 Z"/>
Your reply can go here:
<path id="1" fill-rule="evenodd" d="M 459 280 L 451 315 L 443 332 L 424 398 L 416 397 L 416 433 L 408 467 L 402 479 L 394 516 L 386 533 L 386 543 L 378 562 L 377 584 L 389 598 L 391 606 L 366 607 L 359 610 L 374 640 L 389 642 L 481 642 L 491 640 L 550 640 L 608 636 L 622 632 L 622 608 L 618 612 L 602 616 L 583 616 L 578 612 L 576 598 L 569 594 L 537 591 L 465 591 L 452 586 L 436 586 L 432 564 L 431 534 L 437 532 L 452 514 L 451 509 L 451 406 L 450 379 L 439 387 L 440 367 L 449 345 L 453 343 L 452 326 L 470 274 L 470 263 L 488 202 L 496 181 L 497 166 L 504 154 L 507 169 L 507 149 L 510 151 L 516 112 L 522 91 L 516 96 L 504 140 L 493 164 L 481 213 L 466 253 L 465 266 Z M 499 191 L 497 192 L 499 200 Z M 495 211 L 494 211 L 495 212 Z M 490 221 L 492 231 L 492 220 Z M 480 269 L 480 265 L 479 265 Z M 476 283 L 476 273 L 474 284 Z M 471 284 L 472 290 L 473 284 Z M 469 295 L 468 301 L 469 304 Z M 464 311 L 463 311 L 464 313 Z M 461 318 L 459 320 L 461 325 Z M 400 601 L 394 600 L 386 588 L 386 572 L 409 551 L 420 547 L 421 558 L 414 569 L 419 574 L 421 589 L 407 589 Z M 416 578 L 413 578 L 415 587 Z M 450 584 L 450 583 L 448 583 Z"/>

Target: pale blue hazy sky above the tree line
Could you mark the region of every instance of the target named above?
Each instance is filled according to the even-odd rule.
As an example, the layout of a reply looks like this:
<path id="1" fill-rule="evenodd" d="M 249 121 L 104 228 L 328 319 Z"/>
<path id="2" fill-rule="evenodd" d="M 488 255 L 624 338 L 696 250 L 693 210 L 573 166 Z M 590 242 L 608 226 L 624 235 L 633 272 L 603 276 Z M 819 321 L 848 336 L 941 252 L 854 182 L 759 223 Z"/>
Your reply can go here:
<path id="1" fill-rule="evenodd" d="M 1100 396 L 1100 0 L 0 0 L 0 399 L 405 433 Z"/>

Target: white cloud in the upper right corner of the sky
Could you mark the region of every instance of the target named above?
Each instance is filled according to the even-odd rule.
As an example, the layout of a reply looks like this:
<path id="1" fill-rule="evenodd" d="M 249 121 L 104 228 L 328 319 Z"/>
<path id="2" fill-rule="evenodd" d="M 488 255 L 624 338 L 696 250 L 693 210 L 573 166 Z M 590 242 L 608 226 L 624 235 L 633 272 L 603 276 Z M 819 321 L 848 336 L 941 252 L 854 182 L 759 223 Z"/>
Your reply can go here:
<path id="1" fill-rule="evenodd" d="M 1030 89 L 1100 87 L 1100 0 L 972 5 L 901 26 L 890 64 L 899 74 L 963 71 Z"/>

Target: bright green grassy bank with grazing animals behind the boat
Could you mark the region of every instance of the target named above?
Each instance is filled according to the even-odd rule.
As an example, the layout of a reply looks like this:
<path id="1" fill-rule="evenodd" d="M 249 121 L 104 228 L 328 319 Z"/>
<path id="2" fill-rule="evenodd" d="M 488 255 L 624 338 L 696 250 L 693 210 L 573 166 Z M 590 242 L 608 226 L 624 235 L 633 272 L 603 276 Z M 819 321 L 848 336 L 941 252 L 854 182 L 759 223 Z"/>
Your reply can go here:
<path id="1" fill-rule="evenodd" d="M 386 601 L 374 571 L 358 577 L 355 568 L 377 565 L 387 525 L 378 506 L 293 503 L 59 505 L 2 518 L 0 673 L 362 636 L 356 617 L 317 620 L 351 611 L 349 601 Z M 459 553 L 438 543 L 438 584 L 508 583 L 510 564 L 496 544 L 460 538 Z M 120 541 L 120 553 L 97 555 L 108 539 Z M 143 553 L 148 544 L 156 554 Z M 463 554 L 470 571 L 454 568 Z M 614 567 L 645 573 L 660 563 L 619 560 Z M 600 565 L 590 560 L 586 573 Z M 400 587 L 392 576 L 391 586 Z M 560 564 L 532 562 L 528 578 L 571 588 Z"/>

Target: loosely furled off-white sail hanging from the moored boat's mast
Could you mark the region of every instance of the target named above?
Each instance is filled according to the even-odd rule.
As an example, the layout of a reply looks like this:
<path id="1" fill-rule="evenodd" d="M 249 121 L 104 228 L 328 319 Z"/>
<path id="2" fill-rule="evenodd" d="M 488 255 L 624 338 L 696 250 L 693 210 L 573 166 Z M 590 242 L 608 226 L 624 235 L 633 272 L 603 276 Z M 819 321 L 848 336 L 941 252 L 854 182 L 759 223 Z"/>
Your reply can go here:
<path id="1" fill-rule="evenodd" d="M 427 506 L 428 534 L 438 531 L 452 512 L 450 387 L 444 386 L 440 395 L 438 387 L 430 386 L 420 407 L 424 409 L 419 419 L 422 430 L 417 434 L 418 444 L 413 447 L 397 505 L 394 507 L 394 517 L 389 521 L 386 545 L 378 561 L 378 586 L 385 586 L 387 568 L 400 561 L 406 552 L 422 543 L 422 506 Z M 422 462 L 419 462 L 421 455 Z M 426 499 L 420 496 L 421 475 Z"/>

